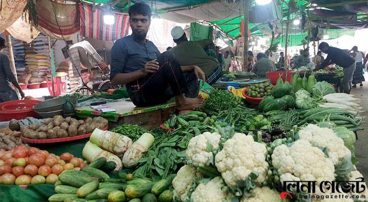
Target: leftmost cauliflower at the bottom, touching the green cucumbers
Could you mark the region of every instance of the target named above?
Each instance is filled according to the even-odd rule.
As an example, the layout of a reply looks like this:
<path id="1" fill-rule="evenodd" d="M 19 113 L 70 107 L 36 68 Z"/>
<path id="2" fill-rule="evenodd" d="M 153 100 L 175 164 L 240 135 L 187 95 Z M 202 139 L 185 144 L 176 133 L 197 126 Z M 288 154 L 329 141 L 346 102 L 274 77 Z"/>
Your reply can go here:
<path id="1" fill-rule="evenodd" d="M 196 177 L 201 177 L 201 174 L 188 165 L 181 167 L 172 180 L 174 198 L 180 201 L 189 199 L 187 193 Z"/>

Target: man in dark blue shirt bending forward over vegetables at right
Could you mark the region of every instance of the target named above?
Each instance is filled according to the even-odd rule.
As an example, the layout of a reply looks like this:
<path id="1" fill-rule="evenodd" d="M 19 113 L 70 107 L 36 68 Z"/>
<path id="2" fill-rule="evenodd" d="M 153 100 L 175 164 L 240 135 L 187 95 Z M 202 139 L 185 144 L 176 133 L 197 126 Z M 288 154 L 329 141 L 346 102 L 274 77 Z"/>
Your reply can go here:
<path id="1" fill-rule="evenodd" d="M 342 51 L 339 48 L 332 47 L 326 42 L 320 43 L 318 49 L 320 49 L 323 53 L 328 55 L 325 62 L 323 62 L 320 66 L 317 66 L 314 71 L 323 69 L 331 64 L 336 64 L 344 68 L 342 87 L 344 88 L 344 92 L 349 94 L 352 86 L 351 81 L 353 80 L 353 74 L 355 71 L 355 60 L 352 57 L 350 57 L 346 52 Z"/>

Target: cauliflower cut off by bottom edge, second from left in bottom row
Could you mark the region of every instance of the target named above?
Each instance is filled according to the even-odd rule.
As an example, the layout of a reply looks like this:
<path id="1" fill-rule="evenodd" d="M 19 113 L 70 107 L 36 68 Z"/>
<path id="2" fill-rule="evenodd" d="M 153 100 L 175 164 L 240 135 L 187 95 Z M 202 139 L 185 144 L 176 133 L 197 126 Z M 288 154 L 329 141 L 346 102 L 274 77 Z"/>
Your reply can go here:
<path id="1" fill-rule="evenodd" d="M 193 202 L 222 202 L 231 199 L 232 194 L 223 189 L 225 183 L 221 177 L 215 177 L 207 183 L 199 184 L 191 195 Z"/>

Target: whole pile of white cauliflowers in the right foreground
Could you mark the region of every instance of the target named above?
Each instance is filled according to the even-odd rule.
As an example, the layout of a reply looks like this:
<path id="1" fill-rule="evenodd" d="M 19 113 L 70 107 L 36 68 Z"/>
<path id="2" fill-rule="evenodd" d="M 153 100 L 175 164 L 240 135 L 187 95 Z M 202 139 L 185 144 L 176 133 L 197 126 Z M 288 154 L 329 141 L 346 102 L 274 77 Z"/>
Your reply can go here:
<path id="1" fill-rule="evenodd" d="M 172 181 L 174 200 L 223 202 L 236 197 L 240 202 L 290 201 L 269 187 L 271 184 L 267 179 L 271 173 L 275 175 L 271 170 L 277 173 L 281 183 L 317 181 L 316 190 L 319 190 L 321 182 L 336 180 L 336 166 L 346 157 L 351 157 L 343 140 L 331 129 L 312 124 L 298 131 L 298 136 L 296 141 L 276 145 L 272 149 L 265 143 L 256 142 L 252 135 L 243 133 L 235 133 L 225 142 L 217 132 L 193 137 L 186 151 L 188 165 L 181 167 Z M 255 174 L 256 179 L 251 179 Z M 358 177 L 362 175 L 354 167 L 347 171 L 345 180 Z M 249 184 L 250 180 L 253 183 L 251 194 L 244 190 L 244 184 Z M 244 192 L 239 192 L 239 189 Z M 368 198 L 368 189 L 360 195 Z"/>

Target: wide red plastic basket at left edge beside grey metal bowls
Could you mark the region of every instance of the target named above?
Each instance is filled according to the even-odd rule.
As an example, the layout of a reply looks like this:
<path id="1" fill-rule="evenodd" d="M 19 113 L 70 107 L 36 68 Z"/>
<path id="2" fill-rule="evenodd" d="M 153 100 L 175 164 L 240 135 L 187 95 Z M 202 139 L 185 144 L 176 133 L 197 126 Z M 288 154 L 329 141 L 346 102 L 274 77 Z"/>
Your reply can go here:
<path id="1" fill-rule="evenodd" d="M 0 121 L 21 120 L 26 117 L 39 118 L 39 115 L 33 110 L 33 106 L 39 103 L 41 103 L 40 100 L 34 99 L 0 103 Z M 25 107 L 25 109 L 19 109 L 19 107 Z"/>

